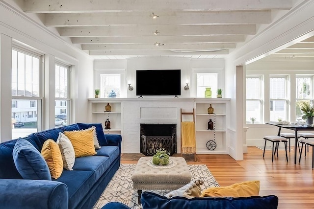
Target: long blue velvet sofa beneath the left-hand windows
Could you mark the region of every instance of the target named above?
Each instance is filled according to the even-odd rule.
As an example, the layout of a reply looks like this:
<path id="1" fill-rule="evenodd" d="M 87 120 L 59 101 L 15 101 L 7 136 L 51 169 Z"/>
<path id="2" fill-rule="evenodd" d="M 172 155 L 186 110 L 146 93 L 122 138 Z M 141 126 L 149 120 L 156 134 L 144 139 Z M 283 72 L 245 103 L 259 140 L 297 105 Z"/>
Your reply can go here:
<path id="1" fill-rule="evenodd" d="M 39 152 L 47 139 L 56 141 L 59 132 L 96 126 L 101 149 L 94 156 L 76 158 L 73 170 L 63 170 L 56 180 L 23 179 L 12 152 L 17 139 L 0 143 L 1 209 L 91 209 L 118 170 L 121 135 L 106 134 L 101 124 L 76 123 L 37 132 L 24 139 Z"/>

